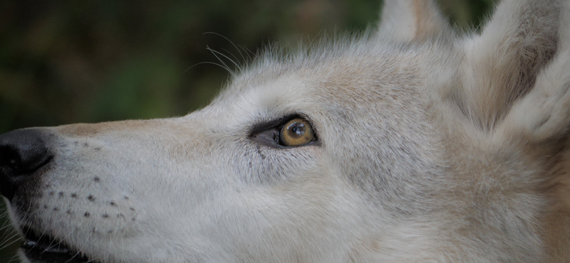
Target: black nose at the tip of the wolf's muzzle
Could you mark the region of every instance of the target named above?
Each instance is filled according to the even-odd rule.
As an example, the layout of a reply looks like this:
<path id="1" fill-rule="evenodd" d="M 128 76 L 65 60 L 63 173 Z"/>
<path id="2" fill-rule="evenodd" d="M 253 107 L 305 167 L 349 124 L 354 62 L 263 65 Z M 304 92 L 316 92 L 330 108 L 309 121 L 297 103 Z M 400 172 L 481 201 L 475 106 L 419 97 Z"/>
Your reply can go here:
<path id="1" fill-rule="evenodd" d="M 11 200 L 19 186 L 50 159 L 46 134 L 39 129 L 0 135 L 0 193 Z"/>

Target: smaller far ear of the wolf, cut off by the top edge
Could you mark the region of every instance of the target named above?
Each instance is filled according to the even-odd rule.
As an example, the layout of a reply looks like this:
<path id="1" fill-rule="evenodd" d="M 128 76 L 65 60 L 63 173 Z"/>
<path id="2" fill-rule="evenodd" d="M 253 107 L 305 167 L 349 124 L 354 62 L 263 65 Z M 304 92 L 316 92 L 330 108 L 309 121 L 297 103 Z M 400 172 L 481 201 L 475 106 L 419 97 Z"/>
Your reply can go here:
<path id="1" fill-rule="evenodd" d="M 424 41 L 447 31 L 448 25 L 432 0 L 385 0 L 378 37 L 398 42 Z"/>

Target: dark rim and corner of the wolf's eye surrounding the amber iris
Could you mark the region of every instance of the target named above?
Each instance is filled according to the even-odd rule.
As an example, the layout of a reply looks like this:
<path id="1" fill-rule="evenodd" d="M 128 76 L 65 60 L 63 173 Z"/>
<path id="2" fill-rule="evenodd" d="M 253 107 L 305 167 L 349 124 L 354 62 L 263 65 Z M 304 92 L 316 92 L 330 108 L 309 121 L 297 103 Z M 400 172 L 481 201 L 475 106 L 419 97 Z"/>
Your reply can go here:
<path id="1" fill-rule="evenodd" d="M 281 130 L 285 124 L 293 119 L 302 119 L 309 124 L 309 127 L 313 132 L 313 139 L 311 139 L 311 141 L 307 142 L 306 144 L 300 144 L 296 146 L 284 145 L 283 141 L 281 141 Z M 285 117 L 276 118 L 269 122 L 259 122 L 252 127 L 249 134 L 249 139 L 252 141 L 275 149 L 291 149 L 311 145 L 321 146 L 321 142 L 318 139 L 318 132 L 315 129 L 314 123 L 304 114 L 289 114 Z"/>

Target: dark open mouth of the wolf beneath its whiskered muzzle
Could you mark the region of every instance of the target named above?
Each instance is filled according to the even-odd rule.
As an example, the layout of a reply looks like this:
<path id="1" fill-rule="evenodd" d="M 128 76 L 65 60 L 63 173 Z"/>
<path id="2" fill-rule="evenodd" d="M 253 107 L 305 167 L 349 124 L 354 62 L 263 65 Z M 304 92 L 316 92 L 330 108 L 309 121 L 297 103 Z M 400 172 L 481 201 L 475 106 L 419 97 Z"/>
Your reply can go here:
<path id="1" fill-rule="evenodd" d="M 21 249 L 30 262 L 93 263 L 80 252 L 63 244 L 61 240 L 56 240 L 46 235 L 38 237 L 29 227 L 23 227 L 23 231 L 24 243 Z"/>

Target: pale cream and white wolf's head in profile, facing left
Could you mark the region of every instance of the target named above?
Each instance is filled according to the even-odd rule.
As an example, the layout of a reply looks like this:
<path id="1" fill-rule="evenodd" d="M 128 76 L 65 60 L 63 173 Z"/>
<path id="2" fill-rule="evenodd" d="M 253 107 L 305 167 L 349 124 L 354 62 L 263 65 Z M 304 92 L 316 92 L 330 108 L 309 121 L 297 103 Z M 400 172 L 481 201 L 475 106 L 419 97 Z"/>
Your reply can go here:
<path id="1" fill-rule="evenodd" d="M 269 48 L 184 117 L 0 136 L 23 262 L 570 262 L 570 1 Z"/>

